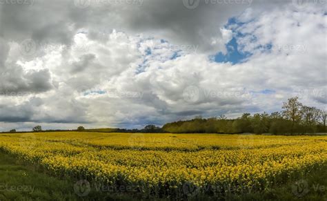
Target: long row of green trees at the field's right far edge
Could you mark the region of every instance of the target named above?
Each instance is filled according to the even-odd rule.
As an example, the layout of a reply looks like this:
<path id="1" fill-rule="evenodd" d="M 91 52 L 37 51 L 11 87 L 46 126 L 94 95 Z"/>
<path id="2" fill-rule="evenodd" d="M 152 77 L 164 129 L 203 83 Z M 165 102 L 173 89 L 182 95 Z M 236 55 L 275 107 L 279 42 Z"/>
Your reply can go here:
<path id="1" fill-rule="evenodd" d="M 272 133 L 304 134 L 326 132 L 326 111 L 304 106 L 298 97 L 288 99 L 283 111 L 275 113 L 244 113 L 237 119 L 224 115 L 204 119 L 196 117 L 187 121 L 165 124 L 168 133 Z"/>

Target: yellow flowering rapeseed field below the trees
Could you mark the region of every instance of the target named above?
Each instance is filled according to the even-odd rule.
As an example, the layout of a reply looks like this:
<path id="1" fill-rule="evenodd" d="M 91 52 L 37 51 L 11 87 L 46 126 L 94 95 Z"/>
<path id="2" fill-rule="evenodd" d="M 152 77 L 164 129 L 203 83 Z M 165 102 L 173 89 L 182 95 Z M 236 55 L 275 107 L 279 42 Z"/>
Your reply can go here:
<path id="1" fill-rule="evenodd" d="M 0 149 L 76 180 L 75 193 L 86 199 L 97 191 L 179 199 L 264 192 L 274 199 L 271 189 L 288 183 L 290 199 L 326 198 L 300 179 L 326 169 L 327 136 L 17 133 L 1 134 Z"/>

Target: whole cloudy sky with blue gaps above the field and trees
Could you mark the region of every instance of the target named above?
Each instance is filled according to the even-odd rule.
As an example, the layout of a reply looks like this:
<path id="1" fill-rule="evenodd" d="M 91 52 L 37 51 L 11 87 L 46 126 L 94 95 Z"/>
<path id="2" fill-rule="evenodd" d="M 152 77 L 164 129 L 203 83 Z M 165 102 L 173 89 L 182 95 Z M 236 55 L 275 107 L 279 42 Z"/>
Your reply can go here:
<path id="1" fill-rule="evenodd" d="M 0 0 L 0 131 L 326 109 L 326 1 Z"/>

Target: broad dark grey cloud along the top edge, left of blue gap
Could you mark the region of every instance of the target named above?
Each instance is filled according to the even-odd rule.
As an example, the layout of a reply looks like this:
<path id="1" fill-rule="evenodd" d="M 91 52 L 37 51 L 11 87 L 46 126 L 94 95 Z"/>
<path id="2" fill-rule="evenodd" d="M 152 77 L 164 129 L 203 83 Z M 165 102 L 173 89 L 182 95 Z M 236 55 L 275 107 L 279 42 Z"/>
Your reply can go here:
<path id="1" fill-rule="evenodd" d="M 90 32 L 111 32 L 112 28 L 118 28 L 212 52 L 224 47 L 219 28 L 230 16 L 240 15 L 252 6 L 251 1 L 214 4 L 201 1 L 195 9 L 188 9 L 181 0 L 145 0 L 141 5 L 90 2 L 84 9 L 76 6 L 75 1 L 63 0 L 36 0 L 32 5 L 5 3 L 1 5 L 0 32 L 6 39 L 33 39 L 41 44 L 69 46 L 72 36 L 81 28 Z M 212 44 L 213 41 L 217 44 Z"/>

